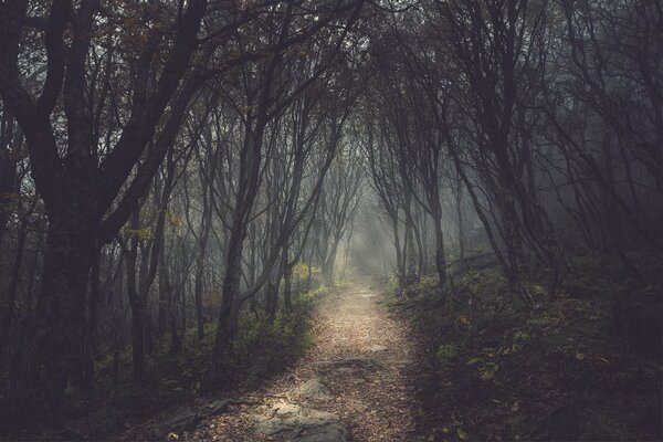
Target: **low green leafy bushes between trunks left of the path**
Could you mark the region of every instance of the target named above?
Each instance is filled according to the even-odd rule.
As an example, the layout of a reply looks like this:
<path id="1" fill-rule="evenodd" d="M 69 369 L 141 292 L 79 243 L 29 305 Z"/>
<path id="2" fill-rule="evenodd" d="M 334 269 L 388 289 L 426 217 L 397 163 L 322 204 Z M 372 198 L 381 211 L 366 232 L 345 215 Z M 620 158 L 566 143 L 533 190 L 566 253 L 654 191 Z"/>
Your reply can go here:
<path id="1" fill-rule="evenodd" d="M 313 343 L 309 316 L 315 302 L 326 292 L 326 288 L 318 288 L 302 295 L 293 312 L 280 312 L 273 323 L 243 311 L 231 355 L 222 361 L 222 371 L 228 375 L 225 380 L 232 385 L 253 382 L 284 368 L 309 348 Z M 215 334 L 215 322 L 204 325 L 204 339 L 198 338 L 197 327 L 188 328 L 181 336 L 177 354 L 171 351 L 169 336 L 159 340 L 146 364 L 147 385 L 156 388 L 155 396 L 200 393 L 210 367 Z M 113 355 L 107 355 L 96 365 L 101 390 L 112 390 L 113 364 Z M 130 392 L 130 347 L 119 355 L 119 389 Z"/>

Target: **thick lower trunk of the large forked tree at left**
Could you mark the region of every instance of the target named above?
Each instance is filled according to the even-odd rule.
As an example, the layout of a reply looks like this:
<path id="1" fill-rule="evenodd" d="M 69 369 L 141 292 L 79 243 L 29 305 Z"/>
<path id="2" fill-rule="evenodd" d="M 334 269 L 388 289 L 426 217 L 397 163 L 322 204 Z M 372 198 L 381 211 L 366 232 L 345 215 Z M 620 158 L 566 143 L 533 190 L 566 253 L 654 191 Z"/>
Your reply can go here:
<path id="1" fill-rule="evenodd" d="M 84 307 L 96 250 L 94 229 L 80 218 L 81 211 L 59 212 L 62 215 L 50 217 L 31 346 L 34 362 L 27 404 L 38 410 L 57 403 L 70 377 L 82 375 Z"/>

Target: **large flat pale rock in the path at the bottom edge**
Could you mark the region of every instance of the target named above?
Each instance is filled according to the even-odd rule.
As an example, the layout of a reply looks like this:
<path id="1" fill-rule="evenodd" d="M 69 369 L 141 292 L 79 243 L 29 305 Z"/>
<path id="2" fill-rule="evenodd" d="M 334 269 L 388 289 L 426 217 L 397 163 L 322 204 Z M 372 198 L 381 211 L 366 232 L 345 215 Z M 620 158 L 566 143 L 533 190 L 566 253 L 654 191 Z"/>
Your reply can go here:
<path id="1" fill-rule="evenodd" d="M 281 411 L 280 411 L 281 410 Z M 350 432 L 337 414 L 292 403 L 274 406 L 272 415 L 254 415 L 253 431 L 267 438 L 303 442 L 349 442 Z"/>

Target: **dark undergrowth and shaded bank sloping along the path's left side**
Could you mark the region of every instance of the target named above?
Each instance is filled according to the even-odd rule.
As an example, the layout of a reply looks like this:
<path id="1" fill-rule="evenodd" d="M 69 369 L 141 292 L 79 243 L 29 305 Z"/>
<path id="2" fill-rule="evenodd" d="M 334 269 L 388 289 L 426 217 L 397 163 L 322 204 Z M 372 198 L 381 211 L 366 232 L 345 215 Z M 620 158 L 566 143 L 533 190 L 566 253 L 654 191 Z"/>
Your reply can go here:
<path id="1" fill-rule="evenodd" d="M 188 328 L 177 354 L 170 351 L 168 337 L 159 340 L 147 358 L 146 379 L 140 385 L 131 381 L 130 347 L 119 354 L 117 385 L 113 382 L 114 356 L 107 355 L 96 365 L 95 399 L 82 403 L 85 410 L 81 414 L 90 420 L 86 435 L 107 436 L 117 432 L 122 423 L 140 422 L 201 396 L 256 386 L 284 370 L 313 345 L 311 316 L 325 293 L 327 288 L 320 287 L 298 295 L 293 311 L 281 311 L 273 323 L 257 318 L 249 309 L 242 312 L 231 355 L 222 362 L 223 382 L 207 388 L 203 386 L 214 346 L 215 323 L 204 325 L 202 340 L 198 339 L 194 325 Z"/>

